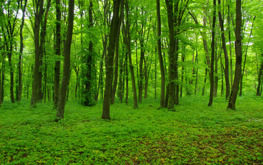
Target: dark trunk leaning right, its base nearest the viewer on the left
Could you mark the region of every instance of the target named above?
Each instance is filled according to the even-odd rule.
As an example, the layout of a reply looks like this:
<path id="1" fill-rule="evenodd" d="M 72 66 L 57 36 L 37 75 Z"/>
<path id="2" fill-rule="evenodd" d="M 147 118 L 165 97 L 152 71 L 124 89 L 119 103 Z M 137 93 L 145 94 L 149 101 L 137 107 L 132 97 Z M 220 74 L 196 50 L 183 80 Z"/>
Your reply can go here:
<path id="1" fill-rule="evenodd" d="M 64 64 L 63 64 L 63 79 L 61 83 L 61 91 L 59 94 L 59 102 L 56 111 L 56 120 L 64 118 L 65 98 L 67 94 L 67 87 L 70 81 L 70 47 L 72 43 L 74 21 L 74 0 L 69 0 L 68 8 L 68 24 L 67 24 L 67 39 L 65 41 L 65 47 L 63 47 Z"/>

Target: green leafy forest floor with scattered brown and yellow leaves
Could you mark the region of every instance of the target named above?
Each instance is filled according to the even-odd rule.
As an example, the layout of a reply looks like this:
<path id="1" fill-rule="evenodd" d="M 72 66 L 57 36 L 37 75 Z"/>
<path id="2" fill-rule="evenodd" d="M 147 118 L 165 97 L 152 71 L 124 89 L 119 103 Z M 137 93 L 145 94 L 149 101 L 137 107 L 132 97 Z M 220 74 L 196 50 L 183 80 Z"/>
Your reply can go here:
<path id="1" fill-rule="evenodd" d="M 240 97 L 237 110 L 224 98 L 185 96 L 176 111 L 146 99 L 139 109 L 116 102 L 112 120 L 95 107 L 67 102 L 54 122 L 52 102 L 3 102 L 0 164 L 262 164 L 263 100 Z"/>

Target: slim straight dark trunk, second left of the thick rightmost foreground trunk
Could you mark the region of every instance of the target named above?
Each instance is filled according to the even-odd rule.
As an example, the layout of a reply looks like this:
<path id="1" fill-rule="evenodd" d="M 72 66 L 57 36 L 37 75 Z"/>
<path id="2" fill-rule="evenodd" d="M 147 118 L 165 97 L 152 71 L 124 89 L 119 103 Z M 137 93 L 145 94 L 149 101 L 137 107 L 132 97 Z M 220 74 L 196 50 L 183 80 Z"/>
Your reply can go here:
<path id="1" fill-rule="evenodd" d="M 216 12 L 216 1 L 213 0 L 213 25 L 212 25 L 212 43 L 211 43 L 211 72 L 210 72 L 210 97 L 208 106 L 213 104 L 213 62 L 215 56 L 215 12 Z"/>

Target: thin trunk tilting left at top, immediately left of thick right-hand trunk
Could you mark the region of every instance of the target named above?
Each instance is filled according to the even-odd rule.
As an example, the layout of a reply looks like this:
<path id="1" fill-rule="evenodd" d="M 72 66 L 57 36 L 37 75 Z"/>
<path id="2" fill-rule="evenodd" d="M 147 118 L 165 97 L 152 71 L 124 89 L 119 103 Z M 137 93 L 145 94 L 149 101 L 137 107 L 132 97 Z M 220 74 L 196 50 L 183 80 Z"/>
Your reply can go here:
<path id="1" fill-rule="evenodd" d="M 221 5 L 221 1 L 218 0 L 218 5 Z M 224 50 L 224 78 L 226 80 L 226 98 L 229 98 L 230 94 L 230 85 L 229 85 L 229 55 L 227 54 L 227 45 L 226 39 L 224 37 L 224 21 L 221 15 L 221 8 L 218 9 L 218 19 L 221 29 L 221 37 L 222 37 L 222 47 Z"/>

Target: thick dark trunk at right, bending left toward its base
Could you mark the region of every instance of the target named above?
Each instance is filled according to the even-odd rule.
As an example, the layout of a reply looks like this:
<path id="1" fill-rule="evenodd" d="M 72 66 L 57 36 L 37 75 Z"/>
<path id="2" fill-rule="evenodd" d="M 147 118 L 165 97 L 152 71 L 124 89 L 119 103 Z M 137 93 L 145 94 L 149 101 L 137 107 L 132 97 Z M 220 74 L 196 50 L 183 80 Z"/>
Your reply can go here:
<path id="1" fill-rule="evenodd" d="M 240 77 L 242 74 L 242 14 L 241 14 L 241 0 L 236 1 L 236 21 L 235 21 L 235 78 L 231 94 L 229 97 L 228 109 L 235 109 L 235 100 L 238 96 L 238 87 L 240 83 Z"/>

